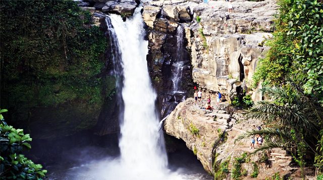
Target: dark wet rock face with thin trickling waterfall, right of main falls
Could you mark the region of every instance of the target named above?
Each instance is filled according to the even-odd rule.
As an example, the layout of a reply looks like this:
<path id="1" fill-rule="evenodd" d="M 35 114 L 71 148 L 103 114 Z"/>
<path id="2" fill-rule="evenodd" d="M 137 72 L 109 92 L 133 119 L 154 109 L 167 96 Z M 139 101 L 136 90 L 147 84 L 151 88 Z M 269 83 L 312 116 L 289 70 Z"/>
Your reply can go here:
<path id="1" fill-rule="evenodd" d="M 142 14 L 148 27 L 148 70 L 158 93 L 161 116 L 170 114 L 185 100 L 188 89 L 193 86 L 185 25 L 179 23 L 190 21 L 191 16 L 184 16 L 182 10 L 173 9 L 177 12 L 175 16 L 159 6 L 147 5 Z"/>

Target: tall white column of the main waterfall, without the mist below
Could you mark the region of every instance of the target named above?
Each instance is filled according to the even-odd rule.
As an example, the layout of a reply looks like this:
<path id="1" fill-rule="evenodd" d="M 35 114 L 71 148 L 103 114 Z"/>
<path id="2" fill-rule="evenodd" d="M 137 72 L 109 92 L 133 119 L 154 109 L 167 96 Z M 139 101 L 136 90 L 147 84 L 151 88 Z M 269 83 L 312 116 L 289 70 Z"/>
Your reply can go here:
<path id="1" fill-rule="evenodd" d="M 167 157 L 164 147 L 158 143 L 156 94 L 147 69 L 148 41 L 143 39 L 143 20 L 140 13 L 126 22 L 117 15 L 110 18 L 119 41 L 125 77 L 122 90 L 124 121 L 119 143 L 121 163 L 134 173 L 157 175 L 166 169 Z"/>

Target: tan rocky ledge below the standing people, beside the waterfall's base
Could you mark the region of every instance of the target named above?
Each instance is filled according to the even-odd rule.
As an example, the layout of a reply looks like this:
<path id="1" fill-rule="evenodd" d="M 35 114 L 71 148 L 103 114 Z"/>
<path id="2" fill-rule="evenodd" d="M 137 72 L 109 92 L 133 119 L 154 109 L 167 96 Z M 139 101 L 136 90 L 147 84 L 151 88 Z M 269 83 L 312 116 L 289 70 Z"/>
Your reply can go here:
<path id="1" fill-rule="evenodd" d="M 227 161 L 228 172 L 224 174 L 230 179 L 237 172 L 235 158 L 247 153 L 239 169 L 243 179 L 251 179 L 255 165 L 257 179 L 271 178 L 275 173 L 293 179 L 299 177 L 300 169 L 293 166 L 292 157 L 285 150 L 275 148 L 252 154 L 254 149 L 250 149 L 249 139 L 234 142 L 241 133 L 260 122 L 245 120 L 241 113 L 230 110 L 224 103 L 213 111 L 201 109 L 205 103 L 194 106 L 192 98 L 180 103 L 165 120 L 164 127 L 167 134 L 185 141 L 208 173 L 219 175 L 221 163 Z M 307 169 L 307 172 L 311 171 Z"/>

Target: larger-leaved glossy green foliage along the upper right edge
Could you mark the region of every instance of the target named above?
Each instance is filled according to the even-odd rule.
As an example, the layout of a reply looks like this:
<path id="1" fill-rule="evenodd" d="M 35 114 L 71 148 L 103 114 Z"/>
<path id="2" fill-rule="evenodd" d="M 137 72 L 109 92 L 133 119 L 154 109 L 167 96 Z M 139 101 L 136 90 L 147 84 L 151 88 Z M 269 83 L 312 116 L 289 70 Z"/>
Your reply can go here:
<path id="1" fill-rule="evenodd" d="M 293 58 L 307 73 L 305 93 L 319 95 L 323 104 L 323 3 L 297 0 L 290 8 L 283 22 L 296 47 Z"/>

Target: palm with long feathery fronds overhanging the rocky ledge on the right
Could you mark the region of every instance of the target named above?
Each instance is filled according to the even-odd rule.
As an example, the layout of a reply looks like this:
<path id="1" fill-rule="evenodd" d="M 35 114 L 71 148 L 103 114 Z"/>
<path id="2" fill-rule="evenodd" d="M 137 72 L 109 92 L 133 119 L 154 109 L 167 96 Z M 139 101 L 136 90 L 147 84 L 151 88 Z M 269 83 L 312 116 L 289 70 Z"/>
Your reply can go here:
<path id="1" fill-rule="evenodd" d="M 313 97 L 307 97 L 295 83 L 283 87 L 263 87 L 259 91 L 268 100 L 258 101 L 245 111 L 245 118 L 262 120 L 261 130 L 251 130 L 236 141 L 256 134 L 266 137 L 266 142 L 255 152 L 271 148 L 283 148 L 300 159 L 306 152 L 315 153 L 319 131 L 322 127 L 322 108 Z M 297 161 L 296 158 L 296 161 Z"/>

